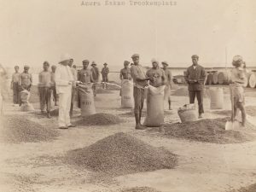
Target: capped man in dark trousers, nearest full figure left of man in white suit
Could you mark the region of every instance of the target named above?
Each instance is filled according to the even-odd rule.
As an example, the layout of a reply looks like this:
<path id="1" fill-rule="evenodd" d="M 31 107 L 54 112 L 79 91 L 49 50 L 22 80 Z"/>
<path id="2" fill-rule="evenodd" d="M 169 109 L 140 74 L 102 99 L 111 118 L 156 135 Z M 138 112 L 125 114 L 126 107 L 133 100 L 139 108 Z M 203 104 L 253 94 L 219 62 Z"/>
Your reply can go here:
<path id="1" fill-rule="evenodd" d="M 47 117 L 50 118 L 50 96 L 51 96 L 51 87 L 52 87 L 52 75 L 49 72 L 49 62 L 44 61 L 44 71 L 39 73 L 39 98 L 40 98 L 40 109 L 41 113 L 44 113 L 44 108 L 46 105 Z"/>

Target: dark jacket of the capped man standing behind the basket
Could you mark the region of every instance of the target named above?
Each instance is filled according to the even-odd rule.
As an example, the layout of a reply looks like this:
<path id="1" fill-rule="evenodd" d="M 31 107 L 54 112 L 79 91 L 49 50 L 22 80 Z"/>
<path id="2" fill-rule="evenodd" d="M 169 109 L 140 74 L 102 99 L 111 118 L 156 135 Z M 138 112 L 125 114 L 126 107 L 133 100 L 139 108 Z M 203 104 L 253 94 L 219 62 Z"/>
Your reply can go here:
<path id="1" fill-rule="evenodd" d="M 204 67 L 197 65 L 195 68 L 190 66 L 185 74 L 185 79 L 189 84 L 189 90 L 203 90 L 204 82 L 207 77 Z M 196 80 L 196 82 L 189 82 L 189 80 Z"/>

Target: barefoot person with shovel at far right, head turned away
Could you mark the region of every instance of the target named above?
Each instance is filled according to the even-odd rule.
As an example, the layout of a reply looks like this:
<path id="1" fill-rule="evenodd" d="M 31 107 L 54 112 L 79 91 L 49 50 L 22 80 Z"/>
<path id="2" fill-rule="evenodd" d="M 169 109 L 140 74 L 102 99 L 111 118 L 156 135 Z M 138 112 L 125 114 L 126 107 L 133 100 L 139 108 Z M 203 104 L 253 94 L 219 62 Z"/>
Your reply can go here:
<path id="1" fill-rule="evenodd" d="M 241 110 L 241 126 L 245 127 L 246 123 L 246 111 L 244 108 L 245 96 L 242 85 L 245 83 L 246 74 L 244 72 L 244 62 L 242 61 L 241 55 L 236 55 L 233 58 L 232 65 L 235 67 L 231 71 L 231 91 L 234 99 L 234 116 L 236 117 L 236 109 Z"/>

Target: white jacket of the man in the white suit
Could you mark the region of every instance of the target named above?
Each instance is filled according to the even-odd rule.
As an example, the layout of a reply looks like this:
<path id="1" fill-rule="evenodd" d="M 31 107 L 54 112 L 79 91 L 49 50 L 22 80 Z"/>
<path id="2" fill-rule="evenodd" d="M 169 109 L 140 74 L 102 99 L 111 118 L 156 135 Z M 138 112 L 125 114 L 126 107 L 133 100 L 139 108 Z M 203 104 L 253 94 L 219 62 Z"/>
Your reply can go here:
<path id="1" fill-rule="evenodd" d="M 65 93 L 71 90 L 72 84 L 70 81 L 74 81 L 73 73 L 69 66 L 59 65 L 55 71 L 55 84 L 57 93 Z"/>

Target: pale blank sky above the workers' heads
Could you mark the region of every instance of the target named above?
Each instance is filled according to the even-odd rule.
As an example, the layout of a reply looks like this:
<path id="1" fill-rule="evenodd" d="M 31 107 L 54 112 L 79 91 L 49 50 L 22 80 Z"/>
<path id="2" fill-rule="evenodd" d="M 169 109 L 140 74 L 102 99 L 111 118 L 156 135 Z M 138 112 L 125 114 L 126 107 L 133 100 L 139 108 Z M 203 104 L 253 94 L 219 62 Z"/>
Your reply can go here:
<path id="1" fill-rule="evenodd" d="M 187 67 L 197 54 L 206 67 L 224 67 L 226 47 L 228 65 L 237 54 L 256 63 L 255 0 L 177 0 L 162 7 L 100 2 L 0 0 L 0 62 L 41 67 L 67 52 L 77 65 L 89 59 L 113 67 L 138 53 L 142 63 L 156 58 Z"/>

